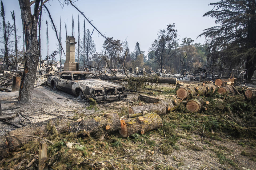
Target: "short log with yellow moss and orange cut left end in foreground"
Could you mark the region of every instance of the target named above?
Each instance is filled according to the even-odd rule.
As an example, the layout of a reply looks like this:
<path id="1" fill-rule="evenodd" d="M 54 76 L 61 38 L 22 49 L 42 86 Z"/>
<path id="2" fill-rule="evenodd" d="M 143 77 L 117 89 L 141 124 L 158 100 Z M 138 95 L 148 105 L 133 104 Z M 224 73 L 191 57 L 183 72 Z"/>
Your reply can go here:
<path id="1" fill-rule="evenodd" d="M 162 119 L 157 113 L 146 113 L 144 116 L 122 119 L 119 133 L 126 138 L 135 133 L 144 134 L 161 127 L 161 125 Z"/>

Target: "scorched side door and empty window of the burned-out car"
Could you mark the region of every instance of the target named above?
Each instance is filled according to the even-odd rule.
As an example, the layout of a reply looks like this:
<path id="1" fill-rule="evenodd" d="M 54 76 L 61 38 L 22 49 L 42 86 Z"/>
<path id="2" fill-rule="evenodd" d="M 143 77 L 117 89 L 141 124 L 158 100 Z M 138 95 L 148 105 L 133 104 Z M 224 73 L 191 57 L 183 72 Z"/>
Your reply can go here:
<path id="1" fill-rule="evenodd" d="M 59 77 L 58 88 L 67 93 L 72 93 L 73 84 L 72 73 L 62 73 Z"/>

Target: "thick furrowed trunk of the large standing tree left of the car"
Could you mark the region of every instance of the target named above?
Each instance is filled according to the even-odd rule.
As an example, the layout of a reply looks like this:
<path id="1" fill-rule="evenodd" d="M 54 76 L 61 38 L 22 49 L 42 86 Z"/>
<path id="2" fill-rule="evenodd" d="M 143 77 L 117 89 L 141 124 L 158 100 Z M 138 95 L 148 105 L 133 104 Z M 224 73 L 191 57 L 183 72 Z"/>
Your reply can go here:
<path id="1" fill-rule="evenodd" d="M 39 2 L 40 0 L 35 1 L 34 15 L 32 15 L 30 9 L 30 1 L 19 0 L 26 42 L 25 66 L 21 79 L 21 87 L 19 90 L 19 103 L 32 103 L 32 94 L 34 89 L 37 64 L 39 60 L 37 40 Z"/>

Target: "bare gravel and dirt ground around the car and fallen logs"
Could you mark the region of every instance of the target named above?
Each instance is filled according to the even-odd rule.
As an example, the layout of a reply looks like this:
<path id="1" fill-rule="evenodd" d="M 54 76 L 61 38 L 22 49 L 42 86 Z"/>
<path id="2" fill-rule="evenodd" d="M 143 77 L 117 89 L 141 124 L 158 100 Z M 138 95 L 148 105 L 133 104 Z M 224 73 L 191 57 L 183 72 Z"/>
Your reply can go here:
<path id="1" fill-rule="evenodd" d="M 158 89 L 175 88 L 175 86 L 170 84 L 152 85 L 156 86 Z M 97 106 L 92 106 L 86 100 L 79 100 L 77 97 L 63 91 L 55 90 L 48 86 L 42 86 L 34 88 L 33 104 L 24 105 L 17 103 L 18 92 L 0 92 L 2 109 L 19 107 L 15 110 L 3 111 L 4 114 L 17 114 L 15 118 L 10 120 L 16 124 L 18 124 L 18 122 L 28 124 L 30 123 L 29 121 L 31 121 L 31 123 L 40 122 L 58 115 L 72 117 L 83 113 L 85 115 L 93 114 L 96 116 L 108 112 L 126 112 L 127 102 L 129 102 L 129 105 L 138 105 L 138 95 L 138 93 L 129 92 L 128 97 L 124 100 L 101 102 L 98 103 Z M 147 103 L 142 104 L 146 105 Z M 29 120 L 22 117 L 19 113 L 22 113 Z M 55 116 L 52 114 L 55 114 Z M 11 126 L 2 121 L 0 122 L 0 135 L 14 129 L 16 129 L 15 126 Z M 145 162 L 145 158 L 141 156 L 135 156 L 133 159 L 129 157 L 122 159 L 127 163 L 133 164 L 133 168 L 130 169 L 256 169 L 256 148 L 249 144 L 250 142 L 255 142 L 254 140 L 234 138 L 226 134 L 214 134 L 214 137 L 206 135 L 203 141 L 201 141 L 201 134 L 197 134 L 196 132 L 191 133 L 190 131 L 178 128 L 175 129 L 175 133 L 179 134 L 179 139 L 175 144 L 177 148 L 172 150 L 169 154 L 166 154 L 159 149 L 163 143 L 162 141 L 165 139 L 163 135 L 159 135 L 160 130 L 161 129 L 151 131 L 143 136 L 146 141 L 148 139 L 149 141 L 154 141 L 151 147 L 147 148 L 155 150 L 154 155 L 148 158 L 149 160 L 147 160 L 146 164 L 143 163 Z M 125 139 L 120 136 L 118 136 L 118 138 L 122 141 L 122 149 L 125 150 L 127 154 L 136 150 L 136 148 L 132 146 L 136 146 L 134 139 L 130 141 L 130 139 Z M 138 137 L 138 139 L 140 138 L 141 137 Z M 146 143 L 149 144 L 149 142 Z M 96 149 L 94 152 L 88 153 L 91 155 L 93 155 L 93 153 L 95 155 L 96 153 L 97 155 L 100 154 L 101 151 Z M 145 154 L 145 147 L 140 147 L 137 151 L 137 155 Z M 106 155 L 110 156 L 112 153 L 108 152 Z M 116 156 L 118 156 L 118 154 Z M 134 159 L 137 159 L 136 164 L 134 163 Z M 5 169 L 5 167 L 2 168 Z"/>

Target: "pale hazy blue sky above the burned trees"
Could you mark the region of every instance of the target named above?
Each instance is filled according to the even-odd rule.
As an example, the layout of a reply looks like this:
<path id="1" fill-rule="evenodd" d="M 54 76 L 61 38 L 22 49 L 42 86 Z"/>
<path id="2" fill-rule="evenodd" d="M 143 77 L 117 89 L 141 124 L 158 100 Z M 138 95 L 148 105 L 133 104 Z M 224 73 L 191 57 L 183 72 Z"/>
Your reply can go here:
<path id="1" fill-rule="evenodd" d="M 132 1 L 85 1 L 80 0 L 75 2 L 77 7 L 84 12 L 89 20 L 96 28 L 99 29 L 105 36 L 114 37 L 124 41 L 127 37 L 130 50 L 133 51 L 136 42 L 140 44 L 140 49 L 148 53 L 150 45 L 157 38 L 159 29 L 167 28 L 167 24 L 175 23 L 178 38 L 191 37 L 196 43 L 204 43 L 204 37 L 198 39 L 197 36 L 202 33 L 203 29 L 215 25 L 214 19 L 202 17 L 202 15 L 210 11 L 213 7 L 208 6 L 209 3 L 217 2 L 217 0 L 132 0 Z M 3 0 L 5 7 L 6 21 L 13 23 L 11 12 L 15 11 L 16 24 L 18 35 L 22 35 L 21 12 L 18 0 Z M 64 21 L 68 23 L 67 35 L 71 35 L 72 15 L 75 20 L 75 38 L 77 41 L 78 33 L 78 15 L 80 19 L 80 30 L 82 38 L 83 16 L 71 5 L 64 4 L 63 8 L 57 0 L 51 0 L 46 3 L 54 24 L 59 33 L 59 19 L 61 17 L 62 44 L 64 50 L 65 45 L 65 27 Z M 32 9 L 33 10 L 33 9 Z M 47 11 L 43 11 L 41 39 L 42 39 L 42 59 L 46 56 L 46 20 L 48 21 L 49 29 L 49 53 L 58 48 L 58 40 L 55 32 L 51 27 L 51 21 Z M 2 19 L 1 19 L 2 22 Z M 91 25 L 85 21 L 85 27 L 90 31 L 93 30 Z M 2 33 L 0 33 L 2 36 Z M 102 50 L 104 38 L 94 31 L 92 36 L 97 52 Z M 3 44 L 1 44 L 3 46 Z M 22 47 L 22 38 L 19 43 L 19 48 Z M 56 56 L 58 59 L 59 56 Z M 62 57 L 65 59 L 65 57 Z"/>

